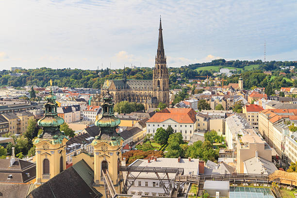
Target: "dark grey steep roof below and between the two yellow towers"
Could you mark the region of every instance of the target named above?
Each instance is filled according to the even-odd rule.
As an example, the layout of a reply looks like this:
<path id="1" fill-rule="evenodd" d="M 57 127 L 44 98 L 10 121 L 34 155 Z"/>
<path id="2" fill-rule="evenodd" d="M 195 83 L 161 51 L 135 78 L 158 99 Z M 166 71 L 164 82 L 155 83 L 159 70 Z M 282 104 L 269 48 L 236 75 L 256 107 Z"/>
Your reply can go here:
<path id="1" fill-rule="evenodd" d="M 94 171 L 84 160 L 34 189 L 28 198 L 100 198 L 94 187 Z"/>

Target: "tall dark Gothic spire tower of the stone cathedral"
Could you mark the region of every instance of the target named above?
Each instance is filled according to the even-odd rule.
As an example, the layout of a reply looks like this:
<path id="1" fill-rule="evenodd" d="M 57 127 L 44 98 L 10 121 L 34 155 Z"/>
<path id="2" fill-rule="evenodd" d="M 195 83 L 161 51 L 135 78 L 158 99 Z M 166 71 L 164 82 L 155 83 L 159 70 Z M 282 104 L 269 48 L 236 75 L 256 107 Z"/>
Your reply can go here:
<path id="1" fill-rule="evenodd" d="M 158 103 L 169 103 L 169 74 L 166 66 L 166 56 L 163 46 L 162 24 L 160 17 L 159 40 L 155 68 L 153 70 L 153 90 Z"/>

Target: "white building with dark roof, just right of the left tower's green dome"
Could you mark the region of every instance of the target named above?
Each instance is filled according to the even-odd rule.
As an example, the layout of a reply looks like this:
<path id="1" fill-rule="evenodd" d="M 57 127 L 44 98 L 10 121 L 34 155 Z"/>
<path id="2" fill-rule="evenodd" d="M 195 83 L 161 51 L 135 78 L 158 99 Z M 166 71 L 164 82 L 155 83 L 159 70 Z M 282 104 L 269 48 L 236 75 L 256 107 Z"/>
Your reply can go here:
<path id="1" fill-rule="evenodd" d="M 58 116 L 62 117 L 66 123 L 77 122 L 81 120 L 80 105 L 72 105 L 57 108 Z"/>

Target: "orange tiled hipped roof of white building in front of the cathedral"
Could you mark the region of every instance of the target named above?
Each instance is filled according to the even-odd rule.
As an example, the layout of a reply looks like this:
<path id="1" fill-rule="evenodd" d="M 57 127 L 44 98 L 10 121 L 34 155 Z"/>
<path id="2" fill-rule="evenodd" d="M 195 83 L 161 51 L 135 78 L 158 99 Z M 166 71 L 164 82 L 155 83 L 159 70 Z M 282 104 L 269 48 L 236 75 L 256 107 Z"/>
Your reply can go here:
<path id="1" fill-rule="evenodd" d="M 189 108 L 166 108 L 155 113 L 147 122 L 163 122 L 172 119 L 178 123 L 196 122 L 196 112 Z"/>

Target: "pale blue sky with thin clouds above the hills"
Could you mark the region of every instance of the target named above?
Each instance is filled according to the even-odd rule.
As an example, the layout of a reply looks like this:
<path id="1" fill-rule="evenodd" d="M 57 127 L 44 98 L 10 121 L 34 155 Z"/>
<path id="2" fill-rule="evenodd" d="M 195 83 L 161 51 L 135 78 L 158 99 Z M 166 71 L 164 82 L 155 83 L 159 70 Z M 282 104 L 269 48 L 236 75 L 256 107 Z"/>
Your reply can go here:
<path id="1" fill-rule="evenodd" d="M 0 69 L 297 61 L 296 0 L 0 0 Z"/>

